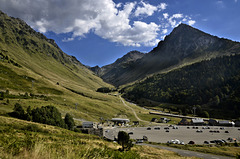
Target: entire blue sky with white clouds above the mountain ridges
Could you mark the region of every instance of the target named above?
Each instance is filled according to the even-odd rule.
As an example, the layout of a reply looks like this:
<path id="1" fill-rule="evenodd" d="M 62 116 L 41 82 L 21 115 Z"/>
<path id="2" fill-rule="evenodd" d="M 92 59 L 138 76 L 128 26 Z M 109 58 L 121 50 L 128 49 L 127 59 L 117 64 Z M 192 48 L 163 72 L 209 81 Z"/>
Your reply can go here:
<path id="1" fill-rule="evenodd" d="M 0 10 L 88 66 L 147 53 L 180 23 L 240 41 L 240 0 L 0 0 Z"/>

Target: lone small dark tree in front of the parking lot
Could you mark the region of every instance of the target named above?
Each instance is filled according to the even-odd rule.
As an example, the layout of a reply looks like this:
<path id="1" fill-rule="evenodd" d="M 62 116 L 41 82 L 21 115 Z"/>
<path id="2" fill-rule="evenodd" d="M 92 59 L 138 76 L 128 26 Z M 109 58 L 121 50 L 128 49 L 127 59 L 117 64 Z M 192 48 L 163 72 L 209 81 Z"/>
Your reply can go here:
<path id="1" fill-rule="evenodd" d="M 118 144 L 122 146 L 122 151 L 130 150 L 133 146 L 128 133 L 125 131 L 118 132 Z"/>

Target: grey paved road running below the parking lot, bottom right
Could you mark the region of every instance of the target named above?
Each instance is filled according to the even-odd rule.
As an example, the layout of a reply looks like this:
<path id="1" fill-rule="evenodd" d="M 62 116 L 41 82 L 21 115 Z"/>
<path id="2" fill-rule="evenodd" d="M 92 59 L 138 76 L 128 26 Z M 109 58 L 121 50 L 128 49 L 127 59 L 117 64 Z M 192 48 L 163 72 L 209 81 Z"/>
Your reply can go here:
<path id="1" fill-rule="evenodd" d="M 232 157 L 218 156 L 218 155 L 176 149 L 176 148 L 172 148 L 172 147 L 165 147 L 165 146 L 159 146 L 159 145 L 151 145 L 151 144 L 145 144 L 145 143 L 142 143 L 139 145 L 146 145 L 146 146 L 151 146 L 151 147 L 155 147 L 155 148 L 173 151 L 173 152 L 178 153 L 181 156 L 186 156 L 186 157 L 199 157 L 199 158 L 203 158 L 203 159 L 232 159 Z"/>

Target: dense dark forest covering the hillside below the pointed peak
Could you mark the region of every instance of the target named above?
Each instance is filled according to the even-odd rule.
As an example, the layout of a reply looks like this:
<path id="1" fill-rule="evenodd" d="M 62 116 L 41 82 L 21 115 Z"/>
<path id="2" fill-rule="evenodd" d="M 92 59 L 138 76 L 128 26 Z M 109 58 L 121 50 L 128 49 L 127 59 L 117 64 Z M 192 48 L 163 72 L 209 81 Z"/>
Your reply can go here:
<path id="1" fill-rule="evenodd" d="M 211 116 L 240 116 L 240 55 L 206 60 L 125 88 L 126 98 L 201 105 Z M 227 113 L 226 113 L 227 112 Z"/>

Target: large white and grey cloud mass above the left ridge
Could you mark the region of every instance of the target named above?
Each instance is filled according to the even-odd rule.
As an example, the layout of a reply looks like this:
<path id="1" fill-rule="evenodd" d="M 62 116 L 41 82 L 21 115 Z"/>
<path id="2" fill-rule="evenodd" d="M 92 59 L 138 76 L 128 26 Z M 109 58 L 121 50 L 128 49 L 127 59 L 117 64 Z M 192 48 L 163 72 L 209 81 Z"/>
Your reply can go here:
<path id="1" fill-rule="evenodd" d="M 70 37 L 63 39 L 65 42 L 84 38 L 92 32 L 124 46 L 156 46 L 159 37 L 179 20 L 185 18 L 189 25 L 195 23 L 183 14 L 168 13 L 163 13 L 164 23 L 144 22 L 140 20 L 141 16 L 153 16 L 167 8 L 166 3 L 151 5 L 144 0 L 126 3 L 113 0 L 1 0 L 0 6 L 2 11 L 23 19 L 42 33 L 70 33 Z"/>

